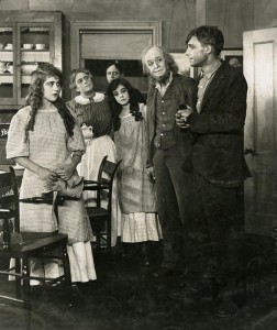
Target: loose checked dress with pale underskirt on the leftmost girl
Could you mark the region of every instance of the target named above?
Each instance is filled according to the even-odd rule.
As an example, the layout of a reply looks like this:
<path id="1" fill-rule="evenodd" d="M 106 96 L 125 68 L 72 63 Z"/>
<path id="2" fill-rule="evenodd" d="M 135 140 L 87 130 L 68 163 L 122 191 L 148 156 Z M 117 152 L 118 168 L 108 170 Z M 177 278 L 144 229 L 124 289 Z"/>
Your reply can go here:
<path id="1" fill-rule="evenodd" d="M 25 138 L 25 128 L 30 120 L 31 107 L 18 111 L 12 118 L 7 142 L 7 157 L 29 157 L 30 161 L 48 169 L 55 169 L 64 164 L 75 151 L 84 152 L 85 144 L 78 125 L 74 129 L 74 136 L 69 138 L 58 110 L 38 110 L 35 117 L 34 130 Z M 20 198 L 42 196 L 45 184 L 40 176 L 27 168 L 24 170 Z M 20 204 L 21 231 L 53 232 L 68 234 L 68 254 L 73 282 L 96 279 L 90 241 L 92 231 L 86 212 L 82 197 L 79 200 L 68 200 L 58 208 L 58 222 L 52 205 Z M 77 244 L 77 245 L 75 245 Z M 84 254 L 87 266 L 78 263 L 76 253 Z M 81 248 L 80 248 L 81 246 Z M 78 250 L 78 251 L 77 251 Z M 42 267 L 33 264 L 41 276 Z M 47 276 L 56 274 L 56 270 L 48 267 Z M 47 273 L 47 272 L 46 272 Z"/>

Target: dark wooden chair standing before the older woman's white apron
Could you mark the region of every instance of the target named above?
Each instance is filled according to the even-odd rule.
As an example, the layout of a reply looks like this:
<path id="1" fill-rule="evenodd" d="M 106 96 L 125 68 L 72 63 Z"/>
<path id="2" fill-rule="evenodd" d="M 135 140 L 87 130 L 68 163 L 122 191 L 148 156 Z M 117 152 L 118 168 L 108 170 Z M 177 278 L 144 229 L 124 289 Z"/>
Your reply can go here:
<path id="1" fill-rule="evenodd" d="M 101 246 L 111 250 L 111 218 L 112 218 L 112 187 L 117 169 L 121 163 L 112 163 L 104 156 L 98 172 L 97 180 L 84 182 L 84 190 L 97 191 L 97 206 L 87 207 L 90 224 L 96 234 L 97 251 L 100 252 Z M 108 208 L 101 206 L 101 196 L 106 191 L 108 194 Z"/>

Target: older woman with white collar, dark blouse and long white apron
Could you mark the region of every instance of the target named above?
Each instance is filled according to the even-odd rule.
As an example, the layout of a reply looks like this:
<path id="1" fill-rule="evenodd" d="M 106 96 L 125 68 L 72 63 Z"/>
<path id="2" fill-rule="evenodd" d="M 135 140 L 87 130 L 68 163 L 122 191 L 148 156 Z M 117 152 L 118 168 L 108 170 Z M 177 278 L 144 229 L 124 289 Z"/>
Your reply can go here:
<path id="1" fill-rule="evenodd" d="M 106 96 L 95 91 L 92 75 L 88 69 L 71 70 L 69 87 L 78 96 L 68 101 L 67 107 L 76 114 L 86 142 L 86 154 L 82 156 L 77 169 L 79 175 L 86 179 L 95 180 L 97 179 L 101 161 L 106 155 L 113 163 L 118 160 L 115 145 L 111 139 L 111 110 Z M 95 191 L 84 191 L 84 198 L 86 206 L 96 206 Z M 102 206 L 104 207 L 104 202 Z M 112 246 L 115 245 L 117 238 L 120 235 L 120 218 L 117 182 L 114 182 L 112 196 Z"/>

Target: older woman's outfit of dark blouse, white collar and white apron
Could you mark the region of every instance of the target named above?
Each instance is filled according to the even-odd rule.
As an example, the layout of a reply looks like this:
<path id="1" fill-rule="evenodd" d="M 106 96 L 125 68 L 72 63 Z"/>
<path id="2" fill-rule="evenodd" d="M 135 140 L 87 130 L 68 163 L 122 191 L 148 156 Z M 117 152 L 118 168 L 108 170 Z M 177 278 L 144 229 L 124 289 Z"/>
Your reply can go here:
<path id="1" fill-rule="evenodd" d="M 108 155 L 108 160 L 115 163 L 117 150 L 110 134 L 112 131 L 111 110 L 103 94 L 96 92 L 93 99 L 77 96 L 66 103 L 75 114 L 80 125 L 91 127 L 93 136 L 85 139 L 86 154 L 77 167 L 79 175 L 86 179 L 96 180 L 102 158 Z M 84 191 L 86 206 L 96 206 L 96 193 Z M 107 201 L 101 200 L 101 206 L 107 207 Z M 118 201 L 117 180 L 113 184 L 112 196 L 112 246 L 117 243 L 121 228 L 121 211 Z"/>

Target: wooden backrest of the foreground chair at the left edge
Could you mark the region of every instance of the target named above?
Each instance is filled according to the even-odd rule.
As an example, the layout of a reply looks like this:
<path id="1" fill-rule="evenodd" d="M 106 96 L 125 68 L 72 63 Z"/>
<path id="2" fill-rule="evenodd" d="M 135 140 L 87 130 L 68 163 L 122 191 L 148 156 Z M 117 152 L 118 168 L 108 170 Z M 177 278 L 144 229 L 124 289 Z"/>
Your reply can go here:
<path id="1" fill-rule="evenodd" d="M 10 210 L 8 212 L 8 210 Z M 13 219 L 13 228 L 11 228 L 10 219 Z M 0 174 L 0 219 L 2 230 L 19 232 L 20 216 L 19 216 L 19 187 L 13 167 L 10 166 L 10 172 Z"/>

